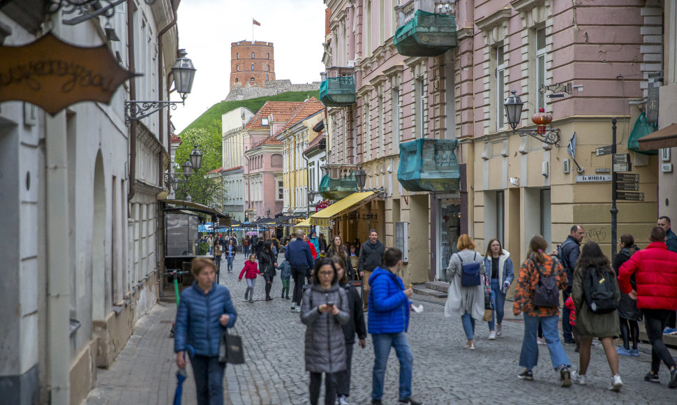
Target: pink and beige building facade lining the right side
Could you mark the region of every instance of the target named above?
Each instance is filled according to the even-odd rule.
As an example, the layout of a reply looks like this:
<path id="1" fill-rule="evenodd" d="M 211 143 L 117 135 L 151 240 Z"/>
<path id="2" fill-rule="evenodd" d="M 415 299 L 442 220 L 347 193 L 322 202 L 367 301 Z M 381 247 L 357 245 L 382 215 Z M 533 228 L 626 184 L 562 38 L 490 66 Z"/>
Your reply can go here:
<path id="1" fill-rule="evenodd" d="M 630 154 L 644 200 L 618 202 L 618 235 L 644 235 L 657 215 L 657 159 L 627 142 L 646 109 L 648 75 L 661 69 L 658 3 L 325 1 L 327 75 L 352 73 L 356 98 L 327 109 L 327 160 L 345 172 L 362 166 L 366 186 L 386 191 L 364 207 L 376 219 L 342 223 L 342 233 L 364 239 L 375 228 L 394 246 L 396 223 L 406 223 L 409 260 L 428 267 L 408 275 L 417 281 L 443 278 L 461 233 L 479 250 L 498 237 L 519 261 L 532 235 L 554 245 L 579 223 L 590 230 L 586 240 L 609 253 L 611 156 L 595 149 L 610 145 L 617 117 L 618 153 Z M 394 34 L 410 9 L 447 6 L 455 47 L 434 57 L 398 52 Z M 544 108 L 553 116 L 549 128 L 559 129 L 556 145 L 514 133 L 503 107 L 511 90 L 524 103 L 517 129 L 535 128 L 530 118 Z M 420 138 L 459 141 L 458 189 L 407 191 L 399 184 L 399 145 Z"/>

